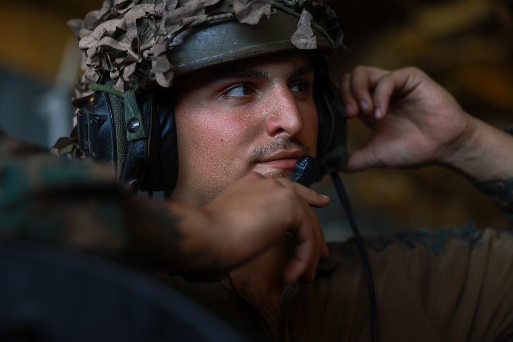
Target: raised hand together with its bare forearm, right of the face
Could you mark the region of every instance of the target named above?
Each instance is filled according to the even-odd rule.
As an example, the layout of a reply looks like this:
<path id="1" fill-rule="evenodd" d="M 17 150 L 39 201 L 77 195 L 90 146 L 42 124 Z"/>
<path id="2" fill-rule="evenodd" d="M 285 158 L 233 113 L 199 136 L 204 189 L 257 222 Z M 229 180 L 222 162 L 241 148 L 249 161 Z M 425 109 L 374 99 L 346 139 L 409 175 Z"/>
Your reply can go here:
<path id="1" fill-rule="evenodd" d="M 467 114 L 417 68 L 357 67 L 344 74 L 341 91 L 347 116 L 372 130 L 369 144 L 350 153 L 348 171 L 436 163 L 477 179 L 513 175 L 501 160 L 513 160 L 513 139 Z"/>

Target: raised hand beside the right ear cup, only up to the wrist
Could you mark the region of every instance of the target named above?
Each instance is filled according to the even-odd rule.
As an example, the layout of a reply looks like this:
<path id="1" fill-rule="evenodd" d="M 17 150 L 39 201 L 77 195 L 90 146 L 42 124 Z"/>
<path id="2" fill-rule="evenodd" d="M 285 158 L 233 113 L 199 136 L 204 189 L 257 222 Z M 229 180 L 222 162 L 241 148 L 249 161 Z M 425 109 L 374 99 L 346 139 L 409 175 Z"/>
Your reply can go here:
<path id="1" fill-rule="evenodd" d="M 357 67 L 343 76 L 342 94 L 348 117 L 360 114 L 373 133 L 348 170 L 443 162 L 469 125 L 456 100 L 415 68 Z"/>

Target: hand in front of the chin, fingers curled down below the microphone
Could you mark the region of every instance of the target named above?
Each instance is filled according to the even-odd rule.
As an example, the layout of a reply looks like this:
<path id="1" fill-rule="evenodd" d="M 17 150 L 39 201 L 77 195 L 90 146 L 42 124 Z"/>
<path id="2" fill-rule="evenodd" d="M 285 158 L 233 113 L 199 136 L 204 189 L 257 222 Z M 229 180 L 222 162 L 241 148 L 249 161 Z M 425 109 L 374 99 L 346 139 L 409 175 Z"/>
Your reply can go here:
<path id="1" fill-rule="evenodd" d="M 203 208 L 194 208 L 196 213 L 181 214 L 185 220 L 179 225 L 186 229 L 182 246 L 197 267 L 231 270 L 283 244 L 285 233 L 290 232 L 297 246 L 284 270 L 284 281 L 311 281 L 328 250 L 310 206 L 324 207 L 328 202 L 300 184 L 250 173 Z"/>

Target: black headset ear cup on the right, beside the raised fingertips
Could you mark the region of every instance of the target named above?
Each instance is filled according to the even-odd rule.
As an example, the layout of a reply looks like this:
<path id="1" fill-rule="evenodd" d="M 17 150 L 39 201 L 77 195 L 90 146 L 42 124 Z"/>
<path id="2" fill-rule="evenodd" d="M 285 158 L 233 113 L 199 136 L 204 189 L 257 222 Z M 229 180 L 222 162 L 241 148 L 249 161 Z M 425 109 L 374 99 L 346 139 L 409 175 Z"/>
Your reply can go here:
<path id="1" fill-rule="evenodd" d="M 317 158 L 321 160 L 323 173 L 345 169 L 347 165 L 346 113 L 338 90 L 328 75 L 326 59 L 315 60 L 313 98 L 319 118 Z"/>

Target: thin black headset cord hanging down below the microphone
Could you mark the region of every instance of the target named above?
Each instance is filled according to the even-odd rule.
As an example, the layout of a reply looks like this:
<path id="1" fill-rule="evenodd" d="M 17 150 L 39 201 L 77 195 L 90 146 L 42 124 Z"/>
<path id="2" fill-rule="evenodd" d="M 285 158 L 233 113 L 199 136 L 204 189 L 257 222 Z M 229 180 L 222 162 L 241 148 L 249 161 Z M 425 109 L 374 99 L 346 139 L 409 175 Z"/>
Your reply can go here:
<path id="1" fill-rule="evenodd" d="M 374 282 L 372 281 L 372 273 L 370 271 L 370 264 L 369 259 L 367 257 L 367 252 L 365 251 L 365 247 L 363 246 L 363 239 L 360 235 L 360 230 L 358 229 L 356 220 L 354 220 L 354 216 L 349 205 L 349 200 L 347 198 L 344 186 L 342 185 L 342 180 L 340 179 L 338 172 L 335 171 L 331 173 L 331 178 L 333 179 L 333 184 L 335 185 L 335 189 L 337 190 L 337 194 L 339 195 L 342 207 L 346 212 L 349 225 L 351 226 L 351 230 L 354 235 L 354 239 L 356 240 L 358 250 L 360 251 L 360 256 L 362 257 L 363 269 L 365 271 L 365 278 L 367 279 L 367 287 L 369 290 L 372 341 L 378 342 L 378 310 L 376 307 L 376 292 L 374 291 Z"/>

